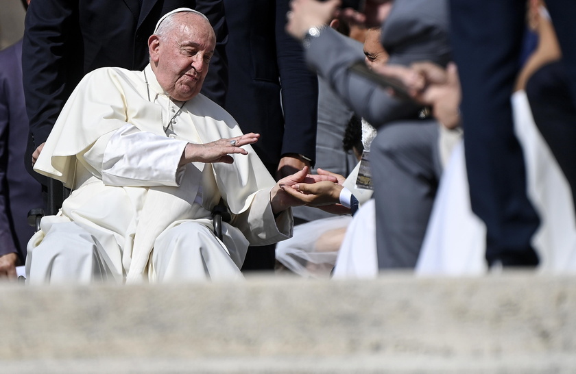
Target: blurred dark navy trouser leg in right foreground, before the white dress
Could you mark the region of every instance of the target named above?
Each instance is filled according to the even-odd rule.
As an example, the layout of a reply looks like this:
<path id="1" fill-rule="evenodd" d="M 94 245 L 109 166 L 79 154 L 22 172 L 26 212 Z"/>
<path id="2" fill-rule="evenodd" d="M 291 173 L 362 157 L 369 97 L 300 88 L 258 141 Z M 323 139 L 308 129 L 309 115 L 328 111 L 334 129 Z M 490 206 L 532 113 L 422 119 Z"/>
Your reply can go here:
<path id="1" fill-rule="evenodd" d="M 563 3 L 560 12 L 573 13 L 573 4 Z M 520 66 L 525 12 L 524 0 L 451 1 L 470 203 L 486 225 L 488 263 L 505 266 L 538 264 L 531 239 L 540 221 L 527 197 L 525 164 L 510 103 Z M 573 19 L 569 23 L 573 28 Z"/>

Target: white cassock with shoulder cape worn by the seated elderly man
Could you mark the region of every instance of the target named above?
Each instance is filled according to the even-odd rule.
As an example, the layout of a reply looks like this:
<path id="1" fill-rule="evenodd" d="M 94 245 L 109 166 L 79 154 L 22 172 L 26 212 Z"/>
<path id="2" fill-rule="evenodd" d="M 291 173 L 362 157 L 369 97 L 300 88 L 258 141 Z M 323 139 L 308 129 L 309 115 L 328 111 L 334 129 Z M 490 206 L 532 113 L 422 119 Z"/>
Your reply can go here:
<path id="1" fill-rule="evenodd" d="M 275 182 L 250 145 L 233 164 L 178 166 L 188 142 L 242 134 L 203 95 L 181 104 L 150 66 L 82 79 L 34 166 L 72 192 L 28 243 L 30 283 L 237 278 L 248 245 L 291 236 L 291 211 L 274 218 Z M 221 198 L 232 213 L 223 240 L 211 220 Z"/>

